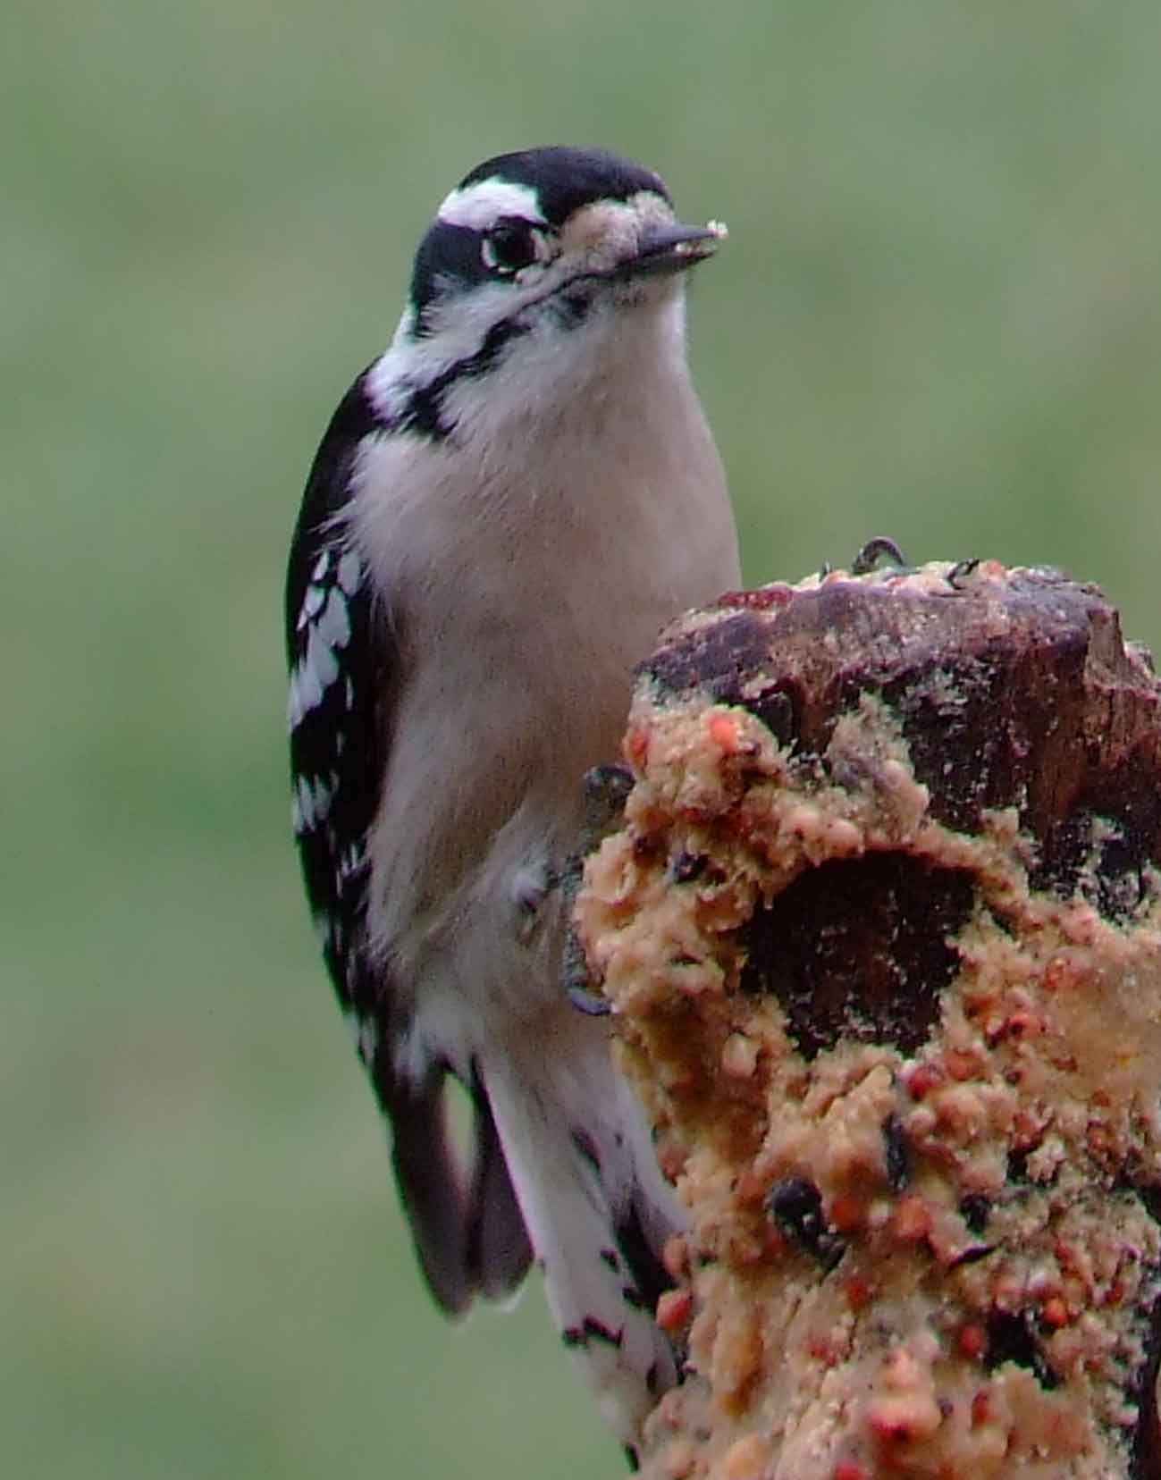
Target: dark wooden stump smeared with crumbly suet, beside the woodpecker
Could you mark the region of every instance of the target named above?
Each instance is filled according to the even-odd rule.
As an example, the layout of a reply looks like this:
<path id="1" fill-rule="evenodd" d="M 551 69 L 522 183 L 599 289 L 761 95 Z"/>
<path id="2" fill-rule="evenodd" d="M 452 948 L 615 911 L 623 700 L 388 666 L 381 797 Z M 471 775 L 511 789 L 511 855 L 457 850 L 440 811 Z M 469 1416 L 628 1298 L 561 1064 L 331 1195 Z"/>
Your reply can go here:
<path id="1" fill-rule="evenodd" d="M 576 925 L 690 1230 L 666 1480 L 1161 1480 L 1161 687 L 995 562 L 644 665 Z"/>

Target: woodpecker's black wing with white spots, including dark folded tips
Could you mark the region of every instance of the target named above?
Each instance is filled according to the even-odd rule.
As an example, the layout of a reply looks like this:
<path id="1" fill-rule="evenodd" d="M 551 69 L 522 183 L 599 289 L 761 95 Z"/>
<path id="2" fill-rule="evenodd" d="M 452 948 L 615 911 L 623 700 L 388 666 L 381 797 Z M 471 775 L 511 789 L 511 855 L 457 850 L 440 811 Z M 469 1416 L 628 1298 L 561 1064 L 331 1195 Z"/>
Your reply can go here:
<path id="1" fill-rule="evenodd" d="M 344 519 L 360 447 L 384 431 L 364 379 L 342 400 L 315 454 L 290 548 L 292 811 L 323 956 L 391 1120 L 392 1163 L 419 1262 L 437 1301 L 455 1314 L 477 1291 L 511 1291 L 532 1255 L 486 1095 L 469 1086 L 475 1159 L 468 1180 L 446 1123 L 449 1066 L 432 1057 L 418 1082 L 398 1072 L 407 1008 L 389 968 L 369 949 L 367 833 L 379 805 L 398 654 Z"/>

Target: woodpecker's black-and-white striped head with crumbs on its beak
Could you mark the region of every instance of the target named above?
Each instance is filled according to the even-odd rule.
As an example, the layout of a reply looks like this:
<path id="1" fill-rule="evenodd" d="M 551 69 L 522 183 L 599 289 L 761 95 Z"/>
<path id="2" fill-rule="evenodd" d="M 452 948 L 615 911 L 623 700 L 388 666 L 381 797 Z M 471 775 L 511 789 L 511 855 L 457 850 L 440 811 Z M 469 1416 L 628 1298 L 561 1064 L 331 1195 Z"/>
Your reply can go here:
<path id="1" fill-rule="evenodd" d="M 684 369 L 683 275 L 724 235 L 680 222 L 660 176 L 601 149 L 486 160 L 419 244 L 370 392 L 401 429 L 443 440 L 484 408 L 579 394 L 634 334 Z"/>

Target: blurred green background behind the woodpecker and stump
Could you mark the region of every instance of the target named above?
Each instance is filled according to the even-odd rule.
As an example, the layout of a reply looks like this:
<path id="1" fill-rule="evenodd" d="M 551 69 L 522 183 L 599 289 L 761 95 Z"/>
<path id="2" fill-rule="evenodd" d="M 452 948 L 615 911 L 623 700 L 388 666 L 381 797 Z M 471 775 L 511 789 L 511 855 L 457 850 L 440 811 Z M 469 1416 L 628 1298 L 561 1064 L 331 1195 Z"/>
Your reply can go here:
<path id="1" fill-rule="evenodd" d="M 732 238 L 693 357 L 752 580 L 1047 561 L 1161 639 L 1157 0 L 33 3 L 4 24 L 3 1471 L 613 1477 L 437 1319 L 287 833 L 284 549 L 415 241 L 597 142 Z"/>

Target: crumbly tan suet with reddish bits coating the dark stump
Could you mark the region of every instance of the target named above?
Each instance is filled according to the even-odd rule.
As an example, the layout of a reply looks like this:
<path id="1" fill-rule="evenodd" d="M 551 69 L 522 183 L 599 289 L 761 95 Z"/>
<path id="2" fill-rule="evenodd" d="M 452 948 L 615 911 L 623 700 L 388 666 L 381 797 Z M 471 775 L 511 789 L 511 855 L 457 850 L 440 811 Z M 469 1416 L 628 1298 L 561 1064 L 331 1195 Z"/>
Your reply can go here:
<path id="1" fill-rule="evenodd" d="M 940 682 L 954 709 L 955 673 Z M 1161 1292 L 1155 876 L 1131 909 L 1097 909 L 1094 826 L 1074 887 L 1034 887 L 1019 808 L 937 820 L 883 696 L 804 753 L 743 703 L 646 679 L 625 755 L 623 827 L 588 861 L 576 924 L 690 1215 L 658 1308 L 687 1373 L 647 1421 L 643 1474 L 1152 1473 L 1134 1444 Z M 854 980 L 812 1027 L 779 940 L 817 929 L 825 953 L 828 888 L 857 915 L 866 870 L 868 909 L 903 901 L 891 941 L 936 901 L 926 977 L 900 987 L 914 1021 L 863 1011 Z"/>

